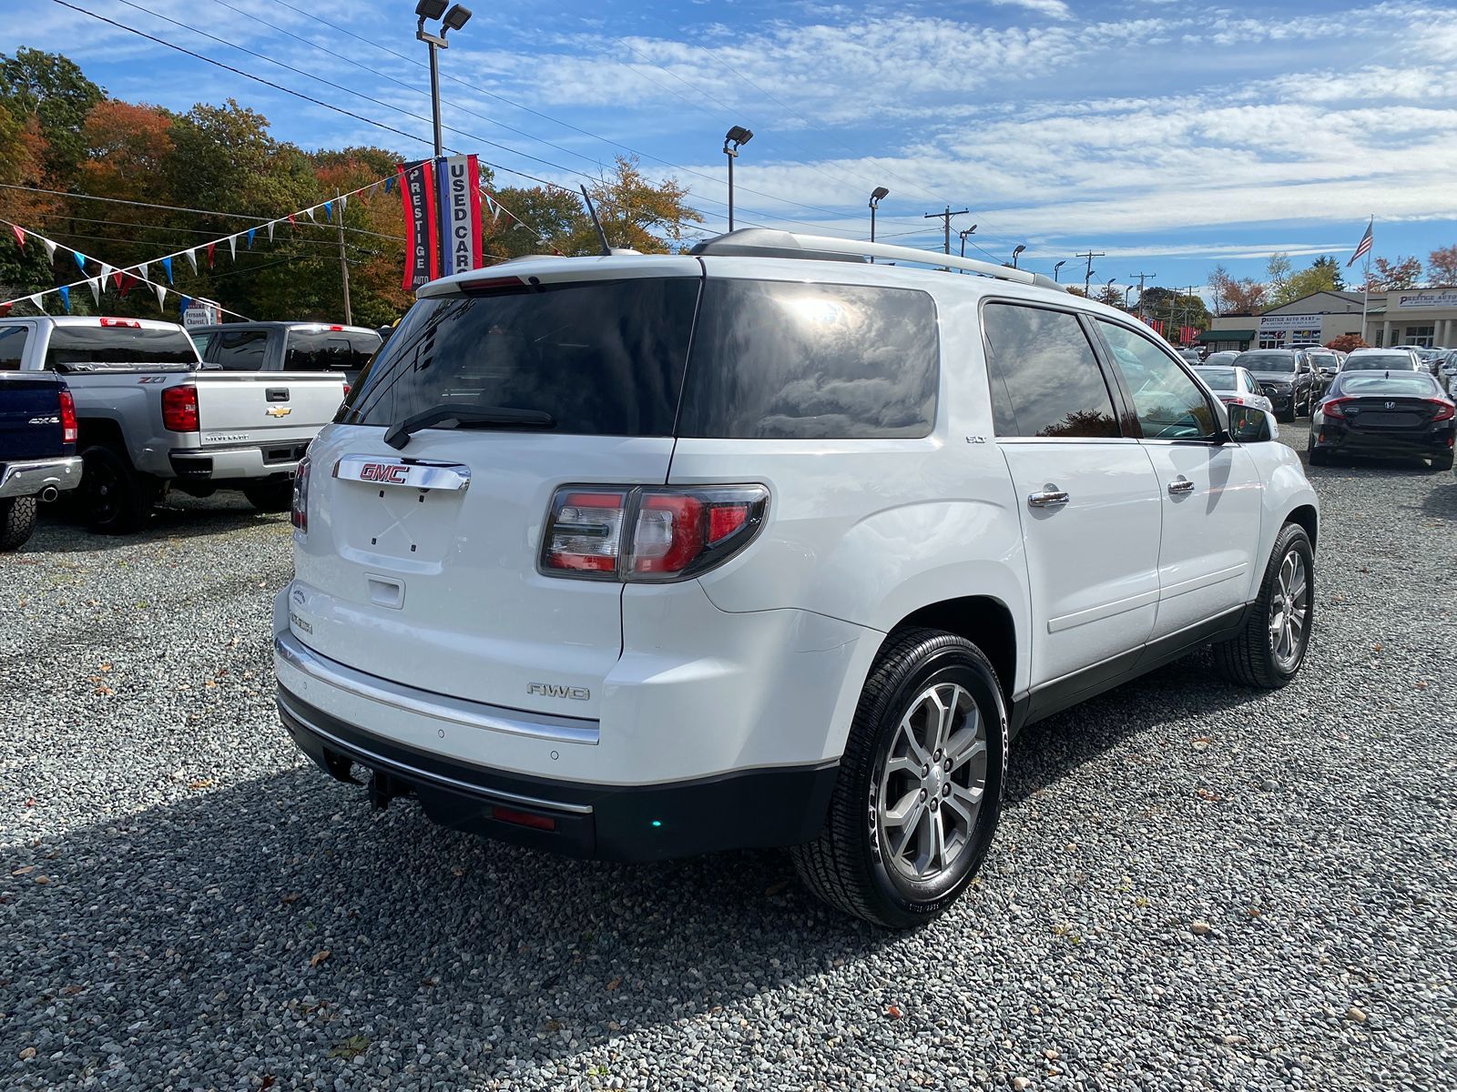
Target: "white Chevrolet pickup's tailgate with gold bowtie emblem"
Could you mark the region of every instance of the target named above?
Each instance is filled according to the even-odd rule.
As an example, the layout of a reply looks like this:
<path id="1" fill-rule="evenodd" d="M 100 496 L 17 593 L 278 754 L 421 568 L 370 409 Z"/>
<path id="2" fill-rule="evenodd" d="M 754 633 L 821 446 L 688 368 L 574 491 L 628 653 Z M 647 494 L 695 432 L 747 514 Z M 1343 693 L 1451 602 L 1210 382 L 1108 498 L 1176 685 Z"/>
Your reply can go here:
<path id="1" fill-rule="evenodd" d="M 286 371 L 195 373 L 203 448 L 307 443 L 344 400 L 341 376 Z"/>

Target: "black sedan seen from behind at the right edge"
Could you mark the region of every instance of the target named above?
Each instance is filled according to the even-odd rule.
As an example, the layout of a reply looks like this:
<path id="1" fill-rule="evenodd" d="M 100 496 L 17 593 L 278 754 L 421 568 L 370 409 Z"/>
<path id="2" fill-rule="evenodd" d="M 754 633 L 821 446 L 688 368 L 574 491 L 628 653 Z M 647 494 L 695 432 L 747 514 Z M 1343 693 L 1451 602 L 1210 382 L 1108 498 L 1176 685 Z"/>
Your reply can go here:
<path id="1" fill-rule="evenodd" d="M 1311 466 L 1333 454 L 1431 459 L 1451 470 L 1453 403 L 1425 371 L 1342 371 L 1310 415 Z"/>

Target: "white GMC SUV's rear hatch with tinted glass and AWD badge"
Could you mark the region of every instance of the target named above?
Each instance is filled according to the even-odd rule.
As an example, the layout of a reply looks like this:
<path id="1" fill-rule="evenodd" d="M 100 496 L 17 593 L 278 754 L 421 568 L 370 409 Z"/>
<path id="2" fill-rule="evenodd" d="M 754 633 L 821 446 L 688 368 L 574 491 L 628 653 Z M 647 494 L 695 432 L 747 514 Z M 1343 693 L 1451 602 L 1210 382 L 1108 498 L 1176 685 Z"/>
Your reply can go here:
<path id="1" fill-rule="evenodd" d="M 542 527 L 562 485 L 666 480 L 702 268 L 527 269 L 427 287 L 310 448 L 291 626 L 392 681 L 596 718 L 622 585 L 542 575 Z M 519 419 L 386 443 L 441 405 Z"/>

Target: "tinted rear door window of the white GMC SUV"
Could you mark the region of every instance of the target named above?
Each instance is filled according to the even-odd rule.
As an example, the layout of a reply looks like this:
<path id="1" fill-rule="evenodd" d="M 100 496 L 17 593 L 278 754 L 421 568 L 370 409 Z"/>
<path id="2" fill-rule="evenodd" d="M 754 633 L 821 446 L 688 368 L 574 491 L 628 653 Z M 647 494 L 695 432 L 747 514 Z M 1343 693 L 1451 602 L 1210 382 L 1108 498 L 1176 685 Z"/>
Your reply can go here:
<path id="1" fill-rule="evenodd" d="M 982 332 L 997 435 L 1119 435 L 1113 397 L 1075 314 L 988 303 Z"/>

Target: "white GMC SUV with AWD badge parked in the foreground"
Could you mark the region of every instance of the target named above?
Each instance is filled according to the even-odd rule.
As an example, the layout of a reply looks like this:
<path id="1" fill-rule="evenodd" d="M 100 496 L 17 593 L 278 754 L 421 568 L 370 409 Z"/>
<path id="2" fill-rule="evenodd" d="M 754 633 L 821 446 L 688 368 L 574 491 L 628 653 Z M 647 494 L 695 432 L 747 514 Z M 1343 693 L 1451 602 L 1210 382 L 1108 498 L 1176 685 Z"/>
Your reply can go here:
<path id="1" fill-rule="evenodd" d="M 1128 314 L 967 259 L 742 230 L 450 277 L 300 467 L 278 709 L 380 807 L 787 846 L 925 922 L 1023 725 L 1211 642 L 1300 670 L 1319 514 L 1272 440 Z"/>

